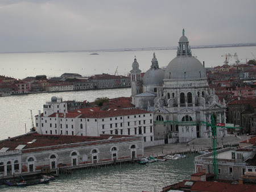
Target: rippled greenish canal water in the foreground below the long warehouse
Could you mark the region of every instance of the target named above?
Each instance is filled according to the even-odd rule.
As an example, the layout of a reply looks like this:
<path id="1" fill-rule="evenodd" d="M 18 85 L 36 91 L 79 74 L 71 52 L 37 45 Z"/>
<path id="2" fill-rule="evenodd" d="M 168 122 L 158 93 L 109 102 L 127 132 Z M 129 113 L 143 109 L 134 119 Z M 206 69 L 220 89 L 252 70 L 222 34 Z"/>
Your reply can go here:
<path id="1" fill-rule="evenodd" d="M 156 191 L 162 187 L 191 178 L 194 156 L 178 161 L 154 162 L 148 165 L 125 164 L 100 169 L 77 170 L 71 176 L 60 176 L 48 184 L 8 187 L 7 191 Z M 120 185 L 121 183 L 121 185 Z"/>

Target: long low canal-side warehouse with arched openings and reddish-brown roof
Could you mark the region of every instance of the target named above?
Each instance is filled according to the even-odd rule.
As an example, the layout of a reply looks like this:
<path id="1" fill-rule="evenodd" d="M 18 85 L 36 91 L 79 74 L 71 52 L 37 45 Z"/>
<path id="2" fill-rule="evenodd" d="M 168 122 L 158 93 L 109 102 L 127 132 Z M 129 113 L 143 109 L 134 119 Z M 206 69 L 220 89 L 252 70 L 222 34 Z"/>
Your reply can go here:
<path id="1" fill-rule="evenodd" d="M 77 168 L 143 156 L 141 136 L 50 136 L 36 132 L 0 141 L 0 176 Z"/>

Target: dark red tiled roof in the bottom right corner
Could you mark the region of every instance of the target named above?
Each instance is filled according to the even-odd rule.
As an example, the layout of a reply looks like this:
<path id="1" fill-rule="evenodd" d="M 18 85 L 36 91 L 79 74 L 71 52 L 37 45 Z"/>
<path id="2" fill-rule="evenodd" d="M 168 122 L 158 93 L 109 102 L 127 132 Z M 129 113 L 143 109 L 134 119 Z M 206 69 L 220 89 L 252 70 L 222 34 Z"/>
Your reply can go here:
<path id="1" fill-rule="evenodd" d="M 256 191 L 256 185 L 238 185 L 214 181 L 197 181 L 191 191 Z"/>

